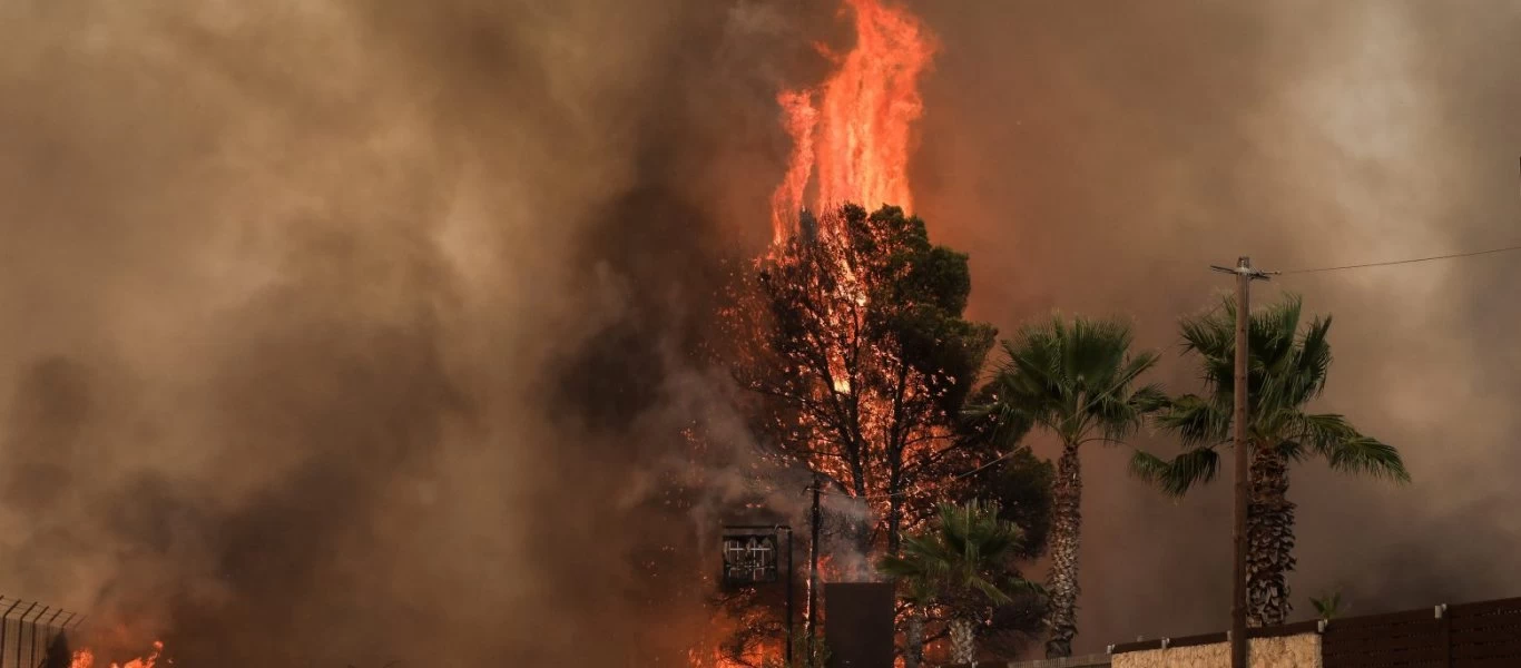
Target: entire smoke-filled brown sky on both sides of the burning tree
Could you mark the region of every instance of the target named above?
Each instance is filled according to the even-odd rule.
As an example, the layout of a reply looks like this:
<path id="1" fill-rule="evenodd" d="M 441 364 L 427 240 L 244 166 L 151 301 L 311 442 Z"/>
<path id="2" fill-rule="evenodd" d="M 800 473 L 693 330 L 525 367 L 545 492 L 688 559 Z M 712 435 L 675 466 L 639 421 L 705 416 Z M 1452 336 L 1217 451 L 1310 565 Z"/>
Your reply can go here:
<path id="1" fill-rule="evenodd" d="M 692 421 L 742 464 L 694 350 L 770 234 L 774 94 L 849 37 L 827 5 L 0 6 L 0 590 L 183 665 L 680 641 L 706 613 L 643 558 L 706 563 L 662 554 L 733 493 L 656 481 Z M 1127 315 L 1191 390 L 1211 263 L 1521 239 L 1518 2 L 913 6 L 917 213 L 1005 332 Z M 1512 260 L 1258 289 L 1335 315 L 1323 406 L 1416 478 L 1296 472 L 1300 615 L 1521 593 Z M 1086 455 L 1078 651 L 1227 609 L 1224 487 L 1173 504 L 1124 460 Z"/>

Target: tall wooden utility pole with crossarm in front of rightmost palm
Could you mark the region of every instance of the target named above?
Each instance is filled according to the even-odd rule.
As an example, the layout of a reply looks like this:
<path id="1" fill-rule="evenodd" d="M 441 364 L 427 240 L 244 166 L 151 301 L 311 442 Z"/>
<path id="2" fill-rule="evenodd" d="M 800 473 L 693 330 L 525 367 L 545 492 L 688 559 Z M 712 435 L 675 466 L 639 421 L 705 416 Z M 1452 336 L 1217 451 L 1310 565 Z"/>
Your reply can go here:
<path id="1" fill-rule="evenodd" d="M 1232 417 L 1232 447 L 1235 449 L 1235 525 L 1232 531 L 1235 565 L 1232 568 L 1234 586 L 1230 587 L 1230 668 L 1249 668 L 1247 638 L 1246 638 L 1246 555 L 1247 555 L 1247 505 L 1250 496 L 1247 485 L 1250 478 L 1250 453 L 1247 446 L 1247 364 L 1250 362 L 1250 324 L 1252 324 L 1252 282 L 1267 280 L 1267 272 L 1252 268 L 1250 257 L 1238 257 L 1237 266 L 1211 266 L 1223 274 L 1235 274 L 1237 278 L 1237 332 L 1235 332 L 1235 415 Z"/>

